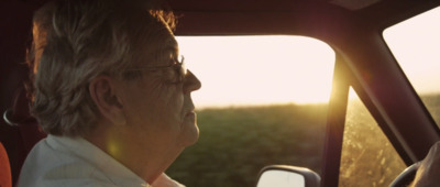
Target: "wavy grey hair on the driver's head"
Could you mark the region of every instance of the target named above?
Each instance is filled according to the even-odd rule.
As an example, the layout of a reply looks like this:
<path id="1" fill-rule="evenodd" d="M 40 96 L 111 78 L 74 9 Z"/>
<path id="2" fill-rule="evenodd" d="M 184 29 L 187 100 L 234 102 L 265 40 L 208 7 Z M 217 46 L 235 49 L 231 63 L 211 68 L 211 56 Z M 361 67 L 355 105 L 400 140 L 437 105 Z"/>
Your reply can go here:
<path id="1" fill-rule="evenodd" d="M 87 134 L 99 117 L 89 81 L 99 75 L 132 79 L 123 69 L 163 47 L 164 30 L 172 33 L 174 16 L 148 6 L 138 0 L 56 0 L 35 12 L 28 64 L 33 69 L 32 113 L 45 132 Z"/>

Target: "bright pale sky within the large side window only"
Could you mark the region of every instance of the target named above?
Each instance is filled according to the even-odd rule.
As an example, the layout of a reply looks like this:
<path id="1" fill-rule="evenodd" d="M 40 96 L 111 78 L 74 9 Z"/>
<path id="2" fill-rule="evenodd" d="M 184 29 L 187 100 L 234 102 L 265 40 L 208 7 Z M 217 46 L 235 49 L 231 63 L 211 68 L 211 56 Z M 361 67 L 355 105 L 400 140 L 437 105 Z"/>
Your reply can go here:
<path id="1" fill-rule="evenodd" d="M 327 102 L 334 52 L 304 36 L 178 36 L 205 107 Z"/>

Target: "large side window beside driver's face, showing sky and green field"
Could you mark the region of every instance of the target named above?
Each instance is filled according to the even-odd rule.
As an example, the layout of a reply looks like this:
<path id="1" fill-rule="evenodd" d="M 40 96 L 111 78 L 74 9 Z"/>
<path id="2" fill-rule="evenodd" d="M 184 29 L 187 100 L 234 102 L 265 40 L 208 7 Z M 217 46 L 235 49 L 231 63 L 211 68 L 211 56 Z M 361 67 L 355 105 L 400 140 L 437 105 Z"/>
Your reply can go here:
<path id="1" fill-rule="evenodd" d="M 201 81 L 200 138 L 167 174 L 187 186 L 254 186 L 271 164 L 319 173 L 336 55 L 304 36 L 178 36 Z"/>

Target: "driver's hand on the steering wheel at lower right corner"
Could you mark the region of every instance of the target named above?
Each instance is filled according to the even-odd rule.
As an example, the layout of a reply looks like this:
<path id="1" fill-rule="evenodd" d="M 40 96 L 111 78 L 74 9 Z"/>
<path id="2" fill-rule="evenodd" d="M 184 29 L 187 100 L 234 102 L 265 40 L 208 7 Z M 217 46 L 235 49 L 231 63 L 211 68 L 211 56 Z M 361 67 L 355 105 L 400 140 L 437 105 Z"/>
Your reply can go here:
<path id="1" fill-rule="evenodd" d="M 440 186 L 440 142 L 429 150 L 428 155 L 421 162 L 417 170 L 413 187 L 438 187 Z"/>

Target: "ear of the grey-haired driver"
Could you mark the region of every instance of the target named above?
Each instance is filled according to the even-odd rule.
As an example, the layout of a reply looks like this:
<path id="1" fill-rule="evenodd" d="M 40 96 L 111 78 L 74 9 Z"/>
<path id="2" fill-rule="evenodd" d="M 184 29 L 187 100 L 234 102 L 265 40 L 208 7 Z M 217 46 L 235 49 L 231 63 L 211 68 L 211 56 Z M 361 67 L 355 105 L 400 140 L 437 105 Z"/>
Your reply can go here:
<path id="1" fill-rule="evenodd" d="M 123 105 L 117 95 L 116 84 L 109 76 L 98 76 L 90 81 L 89 94 L 103 118 L 116 125 L 124 125 Z"/>

